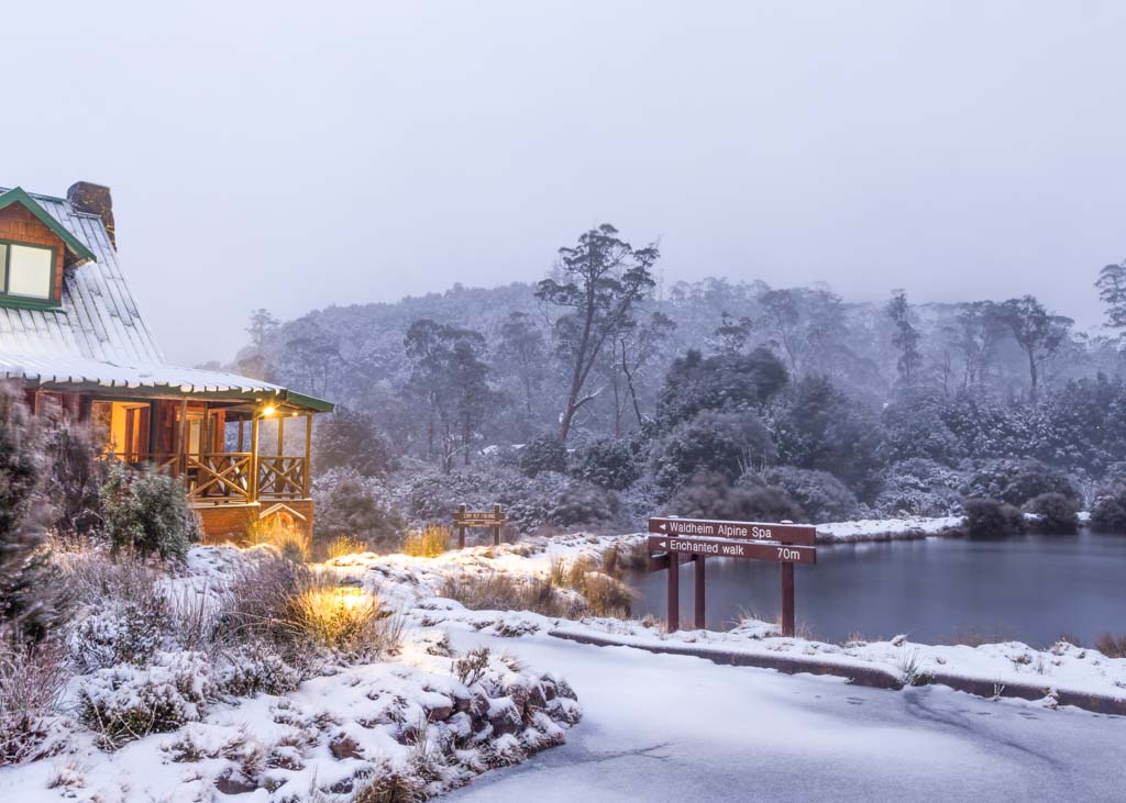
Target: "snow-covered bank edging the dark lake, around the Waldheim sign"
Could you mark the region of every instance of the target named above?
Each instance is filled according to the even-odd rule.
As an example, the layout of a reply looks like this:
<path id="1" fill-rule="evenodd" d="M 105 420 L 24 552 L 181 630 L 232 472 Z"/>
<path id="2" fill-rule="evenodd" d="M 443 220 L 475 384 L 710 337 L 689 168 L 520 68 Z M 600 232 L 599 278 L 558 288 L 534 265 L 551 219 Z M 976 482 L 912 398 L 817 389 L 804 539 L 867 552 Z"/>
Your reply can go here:
<path id="1" fill-rule="evenodd" d="M 954 526 L 951 520 L 911 520 L 910 530 L 939 534 Z M 860 540 L 891 532 L 908 532 L 888 522 L 852 523 L 831 531 L 842 540 Z M 821 526 L 819 525 L 819 530 Z M 924 644 L 905 635 L 865 641 L 859 637 L 844 643 L 805 638 L 783 638 L 776 625 L 747 620 L 727 631 L 680 631 L 665 633 L 656 621 L 626 621 L 613 617 L 561 620 L 519 611 L 471 611 L 439 596 L 449 577 L 501 572 L 515 580 L 543 578 L 553 563 L 580 558 L 598 559 L 611 549 L 640 543 L 641 534 L 570 535 L 529 539 L 497 548 L 474 547 L 439 558 L 405 556 L 350 556 L 331 562 L 346 581 L 370 585 L 385 598 L 396 598 L 408 620 L 419 626 L 461 628 L 494 635 L 547 637 L 551 633 L 589 637 L 602 642 L 659 649 L 677 646 L 678 651 L 741 653 L 771 659 L 810 661 L 811 670 L 844 677 L 864 670 L 886 676 L 893 687 L 915 686 L 949 678 L 950 685 L 976 694 L 1004 696 L 1038 689 L 1043 704 L 1055 706 L 1061 697 L 1082 704 L 1097 697 L 1094 710 L 1126 710 L 1126 658 L 1112 658 L 1096 649 L 1058 641 L 1036 649 L 1019 641 L 966 646 Z M 814 669 L 812 665 L 816 665 Z M 984 689 L 984 692 L 983 692 Z"/>

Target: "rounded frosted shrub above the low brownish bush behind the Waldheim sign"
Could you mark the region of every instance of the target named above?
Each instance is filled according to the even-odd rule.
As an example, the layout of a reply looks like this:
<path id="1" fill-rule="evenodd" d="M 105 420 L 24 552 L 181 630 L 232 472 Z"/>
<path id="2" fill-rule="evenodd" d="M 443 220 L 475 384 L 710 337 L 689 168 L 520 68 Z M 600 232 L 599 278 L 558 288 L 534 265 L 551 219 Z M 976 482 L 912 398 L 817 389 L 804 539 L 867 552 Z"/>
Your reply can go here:
<path id="1" fill-rule="evenodd" d="M 730 481 L 774 457 L 774 444 L 759 417 L 750 412 L 706 410 L 677 424 L 652 449 L 653 479 L 671 491 L 701 471 Z"/>

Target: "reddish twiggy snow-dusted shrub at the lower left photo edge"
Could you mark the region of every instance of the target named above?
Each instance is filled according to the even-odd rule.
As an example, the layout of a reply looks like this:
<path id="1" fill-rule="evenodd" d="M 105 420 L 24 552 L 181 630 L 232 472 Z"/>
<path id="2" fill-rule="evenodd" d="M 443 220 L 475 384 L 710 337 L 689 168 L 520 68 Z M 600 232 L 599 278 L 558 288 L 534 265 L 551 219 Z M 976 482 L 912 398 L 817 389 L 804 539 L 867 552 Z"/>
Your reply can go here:
<path id="1" fill-rule="evenodd" d="M 52 751 L 53 718 L 68 678 L 56 643 L 26 644 L 0 633 L 0 766 Z"/>

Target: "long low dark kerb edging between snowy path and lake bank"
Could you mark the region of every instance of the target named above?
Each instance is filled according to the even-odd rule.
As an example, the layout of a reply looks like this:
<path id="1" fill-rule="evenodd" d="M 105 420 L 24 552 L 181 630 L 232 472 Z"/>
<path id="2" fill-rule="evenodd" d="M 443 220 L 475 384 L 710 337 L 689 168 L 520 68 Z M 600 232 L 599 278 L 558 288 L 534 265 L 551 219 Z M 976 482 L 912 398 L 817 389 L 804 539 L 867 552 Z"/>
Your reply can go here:
<path id="1" fill-rule="evenodd" d="M 548 632 L 548 635 L 553 635 L 556 639 L 574 641 L 580 644 L 592 644 L 595 647 L 632 647 L 637 650 L 645 650 L 646 652 L 704 658 L 713 664 L 722 664 L 726 666 L 776 669 L 777 671 L 785 673 L 787 675 L 796 675 L 799 673 L 807 673 L 811 675 L 833 675 L 837 677 L 843 677 L 849 683 L 856 684 L 857 686 L 868 686 L 870 688 L 900 691 L 904 686 L 899 675 L 878 666 L 843 666 L 805 656 L 763 656 L 749 652 L 735 652 L 714 647 L 703 647 L 699 644 L 634 644 L 616 640 L 610 635 L 574 633 L 564 630 L 553 630 Z M 992 680 L 960 677 L 948 673 L 931 673 L 927 676 L 927 683 L 949 686 L 955 691 L 965 692 L 978 697 L 1018 697 L 1020 700 L 1043 700 L 1049 693 L 1049 689 L 1044 686 L 1033 686 L 1029 684 L 998 684 Z M 1085 711 L 1093 711 L 1100 714 L 1126 716 L 1126 698 L 1108 697 L 1100 694 L 1088 694 L 1066 689 L 1056 691 L 1055 698 L 1058 705 L 1073 705 L 1076 709 L 1084 709 Z"/>

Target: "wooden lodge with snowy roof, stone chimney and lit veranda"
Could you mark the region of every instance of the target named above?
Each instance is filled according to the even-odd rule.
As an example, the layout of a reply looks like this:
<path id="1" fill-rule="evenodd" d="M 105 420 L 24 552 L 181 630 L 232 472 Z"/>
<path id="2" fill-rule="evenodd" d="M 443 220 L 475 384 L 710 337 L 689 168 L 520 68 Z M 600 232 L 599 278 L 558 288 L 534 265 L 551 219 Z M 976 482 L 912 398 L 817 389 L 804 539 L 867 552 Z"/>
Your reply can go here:
<path id="1" fill-rule="evenodd" d="M 104 455 L 179 478 L 209 540 L 259 520 L 311 532 L 313 415 L 332 404 L 164 362 L 122 271 L 109 190 L 0 189 L 0 378 L 93 422 Z"/>

